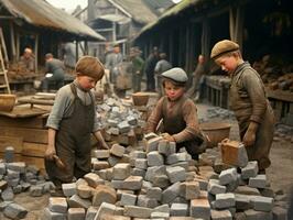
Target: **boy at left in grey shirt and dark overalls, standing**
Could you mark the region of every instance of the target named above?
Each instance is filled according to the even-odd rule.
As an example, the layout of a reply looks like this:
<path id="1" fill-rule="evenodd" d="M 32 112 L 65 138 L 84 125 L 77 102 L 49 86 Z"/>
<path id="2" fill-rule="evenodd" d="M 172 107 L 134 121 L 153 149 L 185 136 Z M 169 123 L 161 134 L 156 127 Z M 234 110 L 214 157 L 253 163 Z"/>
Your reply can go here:
<path id="1" fill-rule="evenodd" d="M 99 132 L 95 99 L 90 91 L 102 78 L 104 66 L 96 57 L 84 56 L 77 62 L 75 72 L 75 80 L 57 91 L 46 124 L 48 144 L 45 167 L 57 188 L 90 172 L 90 133 L 101 147 L 108 148 Z M 56 166 L 56 155 L 65 168 Z"/>

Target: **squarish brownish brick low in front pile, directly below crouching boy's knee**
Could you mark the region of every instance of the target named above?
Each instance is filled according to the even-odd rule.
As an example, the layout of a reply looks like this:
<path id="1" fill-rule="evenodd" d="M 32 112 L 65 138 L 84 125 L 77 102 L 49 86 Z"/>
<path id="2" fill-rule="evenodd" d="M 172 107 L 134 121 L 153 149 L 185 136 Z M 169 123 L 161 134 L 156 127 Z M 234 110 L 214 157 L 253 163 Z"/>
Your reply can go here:
<path id="1" fill-rule="evenodd" d="M 180 185 L 180 195 L 186 200 L 199 198 L 200 188 L 198 182 L 184 182 Z"/>

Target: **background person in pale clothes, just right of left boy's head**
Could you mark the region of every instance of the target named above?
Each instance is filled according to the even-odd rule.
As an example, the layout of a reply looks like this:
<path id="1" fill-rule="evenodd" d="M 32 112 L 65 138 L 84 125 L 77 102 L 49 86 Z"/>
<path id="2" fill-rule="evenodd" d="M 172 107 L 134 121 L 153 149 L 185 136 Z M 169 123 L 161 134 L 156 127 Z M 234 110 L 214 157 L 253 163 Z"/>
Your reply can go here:
<path id="1" fill-rule="evenodd" d="M 110 70 L 110 81 L 116 82 L 118 75 L 118 66 L 123 62 L 123 56 L 120 52 L 120 46 L 116 44 L 111 53 L 106 56 L 106 68 Z"/>

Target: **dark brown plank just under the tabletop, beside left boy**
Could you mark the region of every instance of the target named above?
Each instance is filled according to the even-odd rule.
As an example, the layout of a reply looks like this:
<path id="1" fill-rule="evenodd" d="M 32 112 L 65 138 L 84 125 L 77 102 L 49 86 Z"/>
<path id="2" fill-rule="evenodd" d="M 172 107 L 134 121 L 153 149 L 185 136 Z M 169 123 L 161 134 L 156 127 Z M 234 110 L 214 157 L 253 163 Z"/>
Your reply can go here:
<path id="1" fill-rule="evenodd" d="M 18 118 L 0 116 L 0 127 L 14 127 L 26 129 L 45 129 L 46 118 L 44 117 L 31 117 L 31 118 Z"/>

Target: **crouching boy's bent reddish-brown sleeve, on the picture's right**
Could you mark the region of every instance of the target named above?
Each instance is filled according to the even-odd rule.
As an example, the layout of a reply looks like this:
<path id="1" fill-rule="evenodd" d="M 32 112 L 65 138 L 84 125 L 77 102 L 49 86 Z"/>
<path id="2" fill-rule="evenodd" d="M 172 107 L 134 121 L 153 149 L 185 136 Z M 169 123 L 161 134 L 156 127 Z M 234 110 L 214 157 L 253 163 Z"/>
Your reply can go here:
<path id="1" fill-rule="evenodd" d="M 197 109 L 192 101 L 186 101 L 183 106 L 183 117 L 186 122 L 186 128 L 177 134 L 173 134 L 176 143 L 193 140 L 199 133 L 197 119 Z"/>

